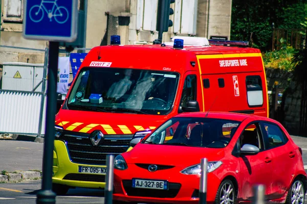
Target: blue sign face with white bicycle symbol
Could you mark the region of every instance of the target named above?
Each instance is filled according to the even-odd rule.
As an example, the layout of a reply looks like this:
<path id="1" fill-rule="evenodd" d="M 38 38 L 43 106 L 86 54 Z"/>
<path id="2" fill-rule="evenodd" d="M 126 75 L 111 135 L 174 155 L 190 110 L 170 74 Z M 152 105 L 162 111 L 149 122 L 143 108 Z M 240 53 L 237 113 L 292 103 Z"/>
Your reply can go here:
<path id="1" fill-rule="evenodd" d="M 27 0 L 25 36 L 69 38 L 74 35 L 74 2 L 75 0 Z"/>

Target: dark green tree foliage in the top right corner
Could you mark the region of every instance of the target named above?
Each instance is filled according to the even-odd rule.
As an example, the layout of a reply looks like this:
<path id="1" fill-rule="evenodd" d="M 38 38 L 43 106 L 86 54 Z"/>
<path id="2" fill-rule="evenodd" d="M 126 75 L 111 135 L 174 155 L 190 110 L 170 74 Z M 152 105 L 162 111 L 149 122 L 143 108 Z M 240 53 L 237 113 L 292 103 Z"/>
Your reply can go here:
<path id="1" fill-rule="evenodd" d="M 272 46 L 275 28 L 299 29 L 307 13 L 307 0 L 232 0 L 231 40 L 250 41 L 262 52 Z"/>

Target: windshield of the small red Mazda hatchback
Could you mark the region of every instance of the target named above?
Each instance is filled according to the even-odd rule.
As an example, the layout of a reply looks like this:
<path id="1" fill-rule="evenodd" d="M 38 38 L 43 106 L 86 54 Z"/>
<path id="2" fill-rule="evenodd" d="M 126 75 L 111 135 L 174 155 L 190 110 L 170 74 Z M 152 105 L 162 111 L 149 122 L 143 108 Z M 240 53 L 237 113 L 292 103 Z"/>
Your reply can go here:
<path id="1" fill-rule="evenodd" d="M 216 118 L 174 117 L 143 143 L 223 148 L 240 122 Z"/>

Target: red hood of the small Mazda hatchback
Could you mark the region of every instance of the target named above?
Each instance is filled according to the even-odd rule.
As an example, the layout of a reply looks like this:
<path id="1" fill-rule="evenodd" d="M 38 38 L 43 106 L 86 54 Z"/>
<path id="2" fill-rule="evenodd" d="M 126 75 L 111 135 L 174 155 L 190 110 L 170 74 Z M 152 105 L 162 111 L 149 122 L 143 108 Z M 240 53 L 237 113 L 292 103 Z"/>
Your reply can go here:
<path id="1" fill-rule="evenodd" d="M 160 164 L 188 167 L 199 164 L 202 158 L 218 161 L 224 157 L 224 148 L 190 147 L 159 144 L 137 144 L 122 154 L 127 164 Z"/>

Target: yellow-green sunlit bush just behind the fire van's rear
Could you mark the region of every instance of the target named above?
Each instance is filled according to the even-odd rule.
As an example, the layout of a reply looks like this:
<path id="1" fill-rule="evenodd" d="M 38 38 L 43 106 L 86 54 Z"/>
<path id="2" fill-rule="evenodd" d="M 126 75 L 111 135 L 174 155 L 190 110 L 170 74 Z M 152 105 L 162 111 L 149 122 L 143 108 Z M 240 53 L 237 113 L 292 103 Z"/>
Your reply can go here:
<path id="1" fill-rule="evenodd" d="M 292 63 L 293 57 L 299 52 L 297 49 L 286 44 L 286 42 L 280 40 L 282 48 L 280 50 L 274 50 L 273 52 L 267 52 L 264 54 L 264 64 L 266 68 L 284 69 L 292 71 L 294 64 Z"/>

